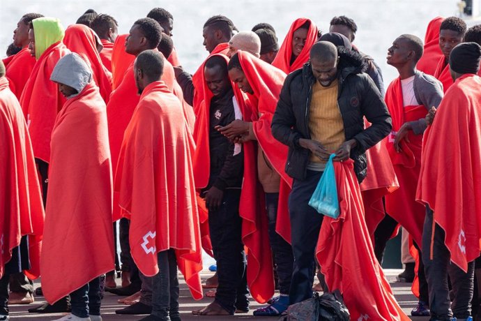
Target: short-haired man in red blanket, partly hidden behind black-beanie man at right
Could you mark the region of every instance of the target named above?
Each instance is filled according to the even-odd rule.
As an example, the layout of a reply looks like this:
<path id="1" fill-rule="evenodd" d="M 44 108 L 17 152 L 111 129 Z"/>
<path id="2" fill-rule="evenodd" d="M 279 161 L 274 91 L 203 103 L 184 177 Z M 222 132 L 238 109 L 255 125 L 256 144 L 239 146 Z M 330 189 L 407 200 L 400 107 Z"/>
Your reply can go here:
<path id="1" fill-rule="evenodd" d="M 438 60 L 434 77 L 443 84 L 444 92 L 448 91 L 453 83 L 449 69 L 451 50 L 463 41 L 466 29 L 466 22 L 459 17 L 448 17 L 439 27 L 439 47 L 443 56 Z"/>

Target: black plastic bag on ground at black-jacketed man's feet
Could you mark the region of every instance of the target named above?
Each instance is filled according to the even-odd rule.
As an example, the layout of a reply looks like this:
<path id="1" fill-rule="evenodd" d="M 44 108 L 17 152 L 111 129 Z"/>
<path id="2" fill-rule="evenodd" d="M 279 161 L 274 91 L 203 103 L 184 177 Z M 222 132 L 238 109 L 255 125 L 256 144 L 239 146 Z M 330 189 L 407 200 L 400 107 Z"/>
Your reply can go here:
<path id="1" fill-rule="evenodd" d="M 349 321 L 351 317 L 339 290 L 314 294 L 312 299 L 293 304 L 282 321 Z"/>

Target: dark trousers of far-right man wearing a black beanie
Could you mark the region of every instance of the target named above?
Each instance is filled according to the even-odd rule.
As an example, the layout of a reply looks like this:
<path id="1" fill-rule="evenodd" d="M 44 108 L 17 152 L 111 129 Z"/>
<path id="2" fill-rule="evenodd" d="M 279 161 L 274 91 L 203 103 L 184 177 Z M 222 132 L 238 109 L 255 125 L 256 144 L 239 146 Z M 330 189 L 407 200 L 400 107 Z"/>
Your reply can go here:
<path id="1" fill-rule="evenodd" d="M 466 319 L 471 315 L 471 300 L 474 290 L 474 261 L 468 263 L 468 273 L 450 262 L 450 251 L 444 244 L 445 232 L 435 225 L 433 239 L 433 260 L 431 260 L 431 238 L 433 212 L 426 209 L 426 219 L 422 230 L 422 260 L 425 264 L 427 283 L 429 285 L 429 310 L 431 320 L 450 320 L 454 315 Z M 455 299 L 450 301 L 448 274 Z"/>

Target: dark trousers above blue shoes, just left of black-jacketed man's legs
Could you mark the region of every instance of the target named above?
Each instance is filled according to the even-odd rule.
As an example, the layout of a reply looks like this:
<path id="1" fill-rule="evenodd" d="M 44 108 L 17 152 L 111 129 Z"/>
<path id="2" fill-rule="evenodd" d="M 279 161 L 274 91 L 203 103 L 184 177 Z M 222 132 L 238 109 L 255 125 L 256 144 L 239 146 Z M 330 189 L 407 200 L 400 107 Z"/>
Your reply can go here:
<path id="1" fill-rule="evenodd" d="M 289 289 L 291 288 L 292 264 L 294 262 L 294 257 L 292 254 L 291 244 L 287 243 L 285 239 L 275 232 L 278 202 L 279 193 L 266 193 L 266 209 L 269 221 L 269 242 L 270 247 L 273 250 L 277 279 L 279 281 L 279 292 L 280 294 L 289 294 Z"/>

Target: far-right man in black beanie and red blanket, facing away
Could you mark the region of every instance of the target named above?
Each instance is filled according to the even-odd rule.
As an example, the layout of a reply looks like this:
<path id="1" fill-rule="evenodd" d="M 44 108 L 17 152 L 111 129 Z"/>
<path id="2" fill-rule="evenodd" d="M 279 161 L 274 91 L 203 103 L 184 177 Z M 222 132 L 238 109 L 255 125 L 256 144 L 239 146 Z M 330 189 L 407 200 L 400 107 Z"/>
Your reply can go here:
<path id="1" fill-rule="evenodd" d="M 436 320 L 473 320 L 474 260 L 480 256 L 481 47 L 461 43 L 451 52 L 454 84 L 425 133 L 416 199 L 426 205 L 422 260 L 429 308 Z M 440 144 L 442 142 L 442 144 Z M 455 294 L 450 302 L 448 275 Z"/>

